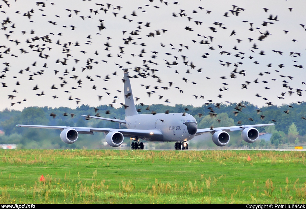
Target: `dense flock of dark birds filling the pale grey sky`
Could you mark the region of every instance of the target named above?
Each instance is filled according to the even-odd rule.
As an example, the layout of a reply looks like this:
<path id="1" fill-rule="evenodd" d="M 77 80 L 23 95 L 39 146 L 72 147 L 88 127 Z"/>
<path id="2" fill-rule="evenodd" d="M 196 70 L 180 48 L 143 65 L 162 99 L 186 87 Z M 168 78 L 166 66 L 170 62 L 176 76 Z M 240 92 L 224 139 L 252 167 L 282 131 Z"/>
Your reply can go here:
<path id="1" fill-rule="evenodd" d="M 290 1 L 276 1 L 282 10 L 221 0 L 2 1 L 1 108 L 110 103 L 111 114 L 125 106 L 118 102 L 125 96 L 122 71 L 143 106 L 304 100 L 306 19 Z M 294 15 L 301 19 L 287 23 Z M 145 110 L 156 113 L 149 106 L 137 111 Z M 212 108 L 210 116 L 217 116 Z"/>

